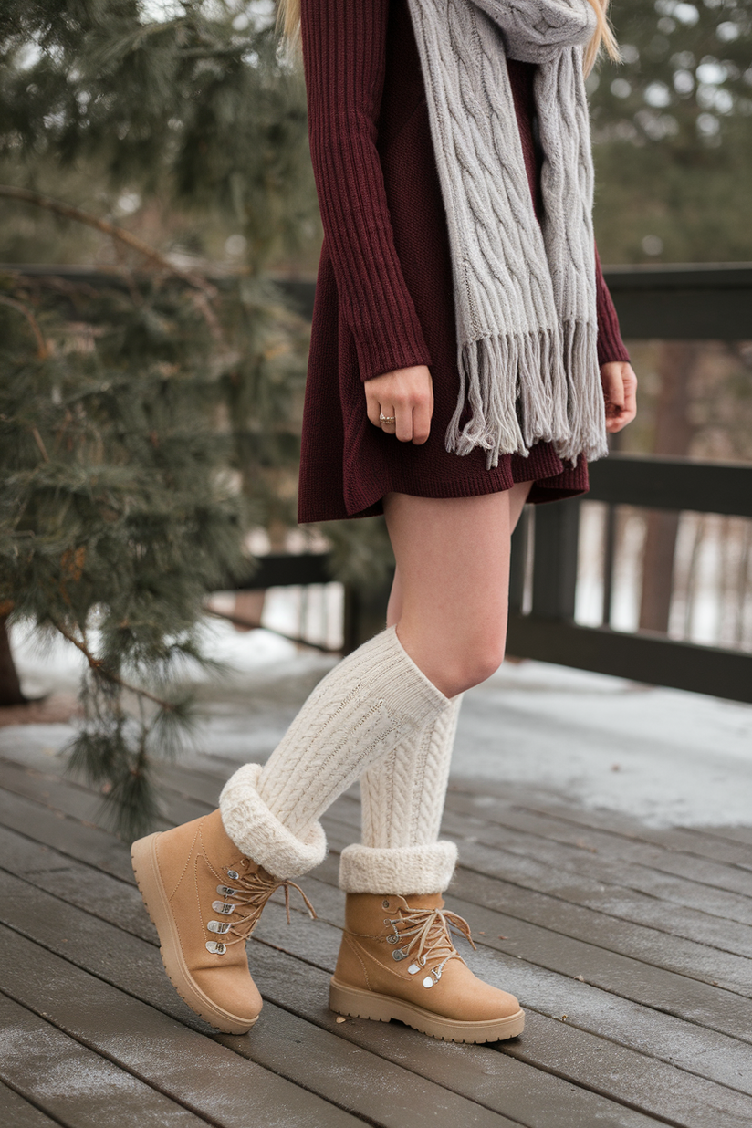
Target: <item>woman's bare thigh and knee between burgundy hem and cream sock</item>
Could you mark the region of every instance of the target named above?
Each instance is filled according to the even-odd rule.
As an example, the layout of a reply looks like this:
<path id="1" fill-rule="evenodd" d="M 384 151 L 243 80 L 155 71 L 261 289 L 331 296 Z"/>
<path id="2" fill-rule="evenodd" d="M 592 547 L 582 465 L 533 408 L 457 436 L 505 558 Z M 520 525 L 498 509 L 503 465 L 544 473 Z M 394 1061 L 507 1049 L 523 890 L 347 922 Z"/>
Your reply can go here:
<path id="1" fill-rule="evenodd" d="M 510 539 L 530 485 L 478 497 L 384 499 L 397 561 L 388 623 L 446 697 L 485 681 L 504 656 Z"/>

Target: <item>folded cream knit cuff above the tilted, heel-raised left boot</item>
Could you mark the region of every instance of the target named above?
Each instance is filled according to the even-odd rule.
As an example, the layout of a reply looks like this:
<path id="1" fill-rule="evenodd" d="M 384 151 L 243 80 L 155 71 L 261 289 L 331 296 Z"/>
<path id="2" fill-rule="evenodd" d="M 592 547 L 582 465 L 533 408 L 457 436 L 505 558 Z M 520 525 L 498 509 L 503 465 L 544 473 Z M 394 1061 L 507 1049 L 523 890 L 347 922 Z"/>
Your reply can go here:
<path id="1" fill-rule="evenodd" d="M 324 828 L 317 821 L 300 836 L 287 830 L 258 794 L 260 774 L 260 764 L 245 764 L 224 784 L 220 795 L 224 829 L 238 849 L 275 878 L 299 878 L 324 861 Z"/>

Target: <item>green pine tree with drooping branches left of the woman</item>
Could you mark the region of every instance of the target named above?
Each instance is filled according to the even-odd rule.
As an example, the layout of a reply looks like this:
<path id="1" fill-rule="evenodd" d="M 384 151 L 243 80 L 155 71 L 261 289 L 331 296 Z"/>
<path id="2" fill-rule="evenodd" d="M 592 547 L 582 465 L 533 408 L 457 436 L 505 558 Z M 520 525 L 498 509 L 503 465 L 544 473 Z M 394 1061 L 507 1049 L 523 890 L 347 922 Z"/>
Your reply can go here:
<path id="1" fill-rule="evenodd" d="M 249 529 L 280 546 L 295 521 L 307 327 L 269 270 L 318 221 L 273 17 L 0 15 L 0 614 L 85 653 L 71 764 L 124 835 L 157 810 L 154 752 L 189 730 L 205 593 L 251 571 Z"/>

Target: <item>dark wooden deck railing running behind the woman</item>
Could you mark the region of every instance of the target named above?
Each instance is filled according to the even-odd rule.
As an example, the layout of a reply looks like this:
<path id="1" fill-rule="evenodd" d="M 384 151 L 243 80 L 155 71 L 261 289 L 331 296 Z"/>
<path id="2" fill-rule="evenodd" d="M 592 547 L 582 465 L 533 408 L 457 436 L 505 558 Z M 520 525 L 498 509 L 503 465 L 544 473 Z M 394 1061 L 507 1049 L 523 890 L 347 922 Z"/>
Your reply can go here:
<path id="1" fill-rule="evenodd" d="M 1 270 L 2 267 L 0 267 Z M 98 272 L 76 267 L 15 266 L 29 274 L 76 276 L 96 284 Z M 631 340 L 752 338 L 752 264 L 607 267 L 622 334 Z M 112 279 L 108 277 L 112 283 Z M 310 316 L 313 283 L 277 280 L 291 303 Z M 612 453 L 591 466 L 589 500 L 652 510 L 699 511 L 752 518 L 752 465 L 643 458 Z M 655 685 L 752 702 L 752 654 L 678 642 L 651 632 L 610 626 L 613 520 L 607 518 L 604 615 L 600 627 L 575 623 L 581 502 L 530 506 L 512 541 L 508 652 Z M 532 526 L 534 522 L 534 536 Z M 610 536 L 608 530 L 611 530 Z M 532 599 L 523 611 L 525 571 L 532 553 Z M 329 557 L 262 558 L 239 587 L 260 590 L 326 583 Z M 345 596 L 344 650 L 351 651 L 383 622 L 388 591 L 350 589 Z"/>

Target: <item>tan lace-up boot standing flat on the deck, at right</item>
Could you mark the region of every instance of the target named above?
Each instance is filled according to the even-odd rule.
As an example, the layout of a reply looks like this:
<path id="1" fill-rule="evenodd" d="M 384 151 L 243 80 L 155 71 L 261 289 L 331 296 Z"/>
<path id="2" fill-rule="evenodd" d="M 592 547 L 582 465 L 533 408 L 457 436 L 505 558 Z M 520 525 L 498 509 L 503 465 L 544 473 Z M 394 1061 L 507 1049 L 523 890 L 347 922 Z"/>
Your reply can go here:
<path id="1" fill-rule="evenodd" d="M 514 995 L 472 975 L 450 928 L 470 943 L 467 922 L 442 911 L 441 893 L 348 893 L 329 1006 L 359 1019 L 400 1022 L 452 1042 L 495 1042 L 522 1033 Z M 475 945 L 474 945 L 475 946 Z"/>

